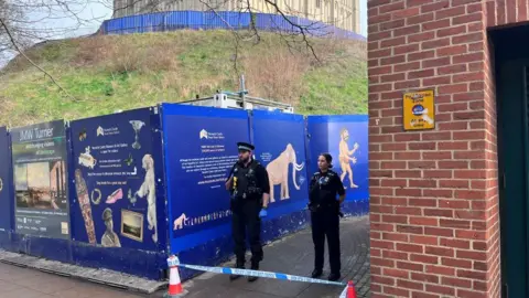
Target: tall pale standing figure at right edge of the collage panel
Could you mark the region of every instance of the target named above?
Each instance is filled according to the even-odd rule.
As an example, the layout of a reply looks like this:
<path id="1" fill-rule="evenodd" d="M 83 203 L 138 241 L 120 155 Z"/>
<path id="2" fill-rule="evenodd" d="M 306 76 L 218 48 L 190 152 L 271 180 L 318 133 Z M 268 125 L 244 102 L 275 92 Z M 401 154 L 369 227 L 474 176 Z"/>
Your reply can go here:
<path id="1" fill-rule="evenodd" d="M 147 202 L 149 206 L 147 209 L 147 222 L 149 223 L 149 230 L 154 230 L 152 241 L 158 243 L 158 227 L 156 227 L 156 184 L 154 180 L 154 160 L 151 155 L 145 155 L 142 160 L 142 168 L 147 171 L 143 184 L 136 193 L 140 198 L 147 195 Z"/>

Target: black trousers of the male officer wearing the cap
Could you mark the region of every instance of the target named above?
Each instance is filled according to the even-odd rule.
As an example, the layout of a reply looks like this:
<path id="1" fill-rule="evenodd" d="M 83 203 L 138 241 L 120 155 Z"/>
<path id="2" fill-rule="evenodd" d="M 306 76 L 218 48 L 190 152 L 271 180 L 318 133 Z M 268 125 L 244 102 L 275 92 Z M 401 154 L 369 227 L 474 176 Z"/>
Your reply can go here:
<path id="1" fill-rule="evenodd" d="M 233 206 L 231 230 L 235 242 L 235 255 L 237 256 L 237 265 L 239 266 L 245 264 L 246 230 L 248 230 L 248 238 L 250 242 L 251 264 L 257 265 L 262 260 L 260 211 L 260 201 L 252 199 L 241 200 Z"/>

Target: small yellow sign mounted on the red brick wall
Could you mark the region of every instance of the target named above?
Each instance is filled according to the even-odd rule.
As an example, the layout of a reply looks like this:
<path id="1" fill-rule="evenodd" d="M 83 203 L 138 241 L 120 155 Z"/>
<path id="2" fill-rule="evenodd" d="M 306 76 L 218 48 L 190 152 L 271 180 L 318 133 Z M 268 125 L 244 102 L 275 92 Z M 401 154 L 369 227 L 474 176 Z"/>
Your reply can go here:
<path id="1" fill-rule="evenodd" d="M 434 91 L 408 92 L 403 95 L 404 130 L 425 130 L 435 128 Z"/>

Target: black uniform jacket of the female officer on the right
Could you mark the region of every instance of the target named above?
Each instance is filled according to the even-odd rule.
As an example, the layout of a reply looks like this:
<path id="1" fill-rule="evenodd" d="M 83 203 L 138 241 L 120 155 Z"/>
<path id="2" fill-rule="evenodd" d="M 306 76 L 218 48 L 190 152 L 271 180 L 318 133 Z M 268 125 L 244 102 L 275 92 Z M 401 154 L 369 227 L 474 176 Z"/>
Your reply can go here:
<path id="1" fill-rule="evenodd" d="M 317 171 L 312 175 L 310 183 L 310 201 L 314 205 L 335 205 L 336 196 L 344 195 L 345 189 L 335 171 Z"/>

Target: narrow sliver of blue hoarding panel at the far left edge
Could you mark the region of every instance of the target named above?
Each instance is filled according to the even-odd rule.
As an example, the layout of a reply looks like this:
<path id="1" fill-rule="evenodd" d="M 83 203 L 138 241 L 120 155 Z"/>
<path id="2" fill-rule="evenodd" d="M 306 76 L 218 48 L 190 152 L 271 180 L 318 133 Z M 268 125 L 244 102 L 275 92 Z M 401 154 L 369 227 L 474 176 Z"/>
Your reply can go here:
<path id="1" fill-rule="evenodd" d="M 13 196 L 12 196 L 12 164 L 9 149 L 9 136 L 6 127 L 0 127 L 0 231 L 12 230 Z"/>

